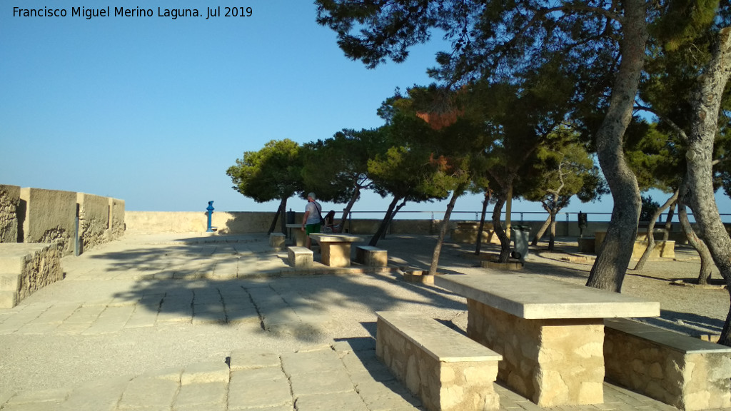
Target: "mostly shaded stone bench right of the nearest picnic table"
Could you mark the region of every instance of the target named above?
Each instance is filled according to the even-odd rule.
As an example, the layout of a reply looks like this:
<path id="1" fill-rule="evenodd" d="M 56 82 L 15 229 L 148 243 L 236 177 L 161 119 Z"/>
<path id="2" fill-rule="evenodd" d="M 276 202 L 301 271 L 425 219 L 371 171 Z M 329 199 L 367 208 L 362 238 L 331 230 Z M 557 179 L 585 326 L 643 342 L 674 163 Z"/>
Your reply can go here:
<path id="1" fill-rule="evenodd" d="M 731 347 L 613 318 L 604 352 L 607 380 L 681 410 L 731 407 Z"/>

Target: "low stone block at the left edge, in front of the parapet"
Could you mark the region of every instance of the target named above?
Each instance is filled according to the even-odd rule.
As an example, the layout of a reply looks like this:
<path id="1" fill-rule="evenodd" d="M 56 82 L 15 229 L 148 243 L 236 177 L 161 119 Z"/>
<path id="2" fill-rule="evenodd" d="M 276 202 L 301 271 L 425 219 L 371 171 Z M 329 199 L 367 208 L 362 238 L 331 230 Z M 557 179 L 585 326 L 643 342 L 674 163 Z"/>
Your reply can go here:
<path id="1" fill-rule="evenodd" d="M 0 244 L 0 307 L 12 308 L 63 278 L 61 245 L 57 242 Z"/>

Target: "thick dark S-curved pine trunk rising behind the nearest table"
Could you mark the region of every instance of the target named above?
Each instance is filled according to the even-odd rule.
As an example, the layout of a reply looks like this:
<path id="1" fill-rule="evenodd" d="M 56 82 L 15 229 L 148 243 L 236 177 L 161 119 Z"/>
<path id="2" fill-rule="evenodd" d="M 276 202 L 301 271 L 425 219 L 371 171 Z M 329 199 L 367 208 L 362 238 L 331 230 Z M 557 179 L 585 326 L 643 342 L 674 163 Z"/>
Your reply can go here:
<path id="1" fill-rule="evenodd" d="M 620 42 L 621 63 L 612 89 L 607 115 L 596 133 L 596 155 L 607 178 L 614 207 L 607 236 L 591 268 L 586 285 L 619 293 L 632 257 L 640 216 L 640 189 L 622 151 L 624 132 L 640 83 L 648 39 L 644 0 L 624 1 Z"/>

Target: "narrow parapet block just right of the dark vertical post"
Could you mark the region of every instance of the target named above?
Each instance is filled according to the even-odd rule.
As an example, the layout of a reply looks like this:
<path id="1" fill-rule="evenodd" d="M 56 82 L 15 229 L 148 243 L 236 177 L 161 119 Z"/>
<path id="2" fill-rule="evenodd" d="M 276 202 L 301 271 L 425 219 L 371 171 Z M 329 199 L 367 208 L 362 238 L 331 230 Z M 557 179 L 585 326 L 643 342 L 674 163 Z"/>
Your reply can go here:
<path id="1" fill-rule="evenodd" d="M 109 241 L 110 199 L 79 192 L 79 253 Z"/>

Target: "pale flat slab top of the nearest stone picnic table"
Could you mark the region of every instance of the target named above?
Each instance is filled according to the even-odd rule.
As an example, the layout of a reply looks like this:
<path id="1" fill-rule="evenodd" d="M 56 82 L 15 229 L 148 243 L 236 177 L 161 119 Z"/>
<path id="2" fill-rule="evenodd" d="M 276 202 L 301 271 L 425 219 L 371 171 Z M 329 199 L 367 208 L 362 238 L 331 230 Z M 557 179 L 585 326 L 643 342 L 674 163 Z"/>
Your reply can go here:
<path id="1" fill-rule="evenodd" d="M 655 301 L 531 274 L 449 274 L 434 284 L 529 320 L 660 315 Z"/>

